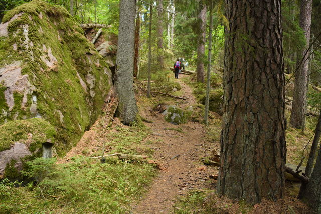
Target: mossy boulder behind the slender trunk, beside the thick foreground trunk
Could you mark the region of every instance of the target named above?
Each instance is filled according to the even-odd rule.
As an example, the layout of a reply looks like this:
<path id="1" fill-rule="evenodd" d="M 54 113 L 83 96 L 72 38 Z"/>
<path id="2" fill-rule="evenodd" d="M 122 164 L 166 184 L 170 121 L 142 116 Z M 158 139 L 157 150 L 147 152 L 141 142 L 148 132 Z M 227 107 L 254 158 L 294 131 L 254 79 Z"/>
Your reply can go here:
<path id="1" fill-rule="evenodd" d="M 209 110 L 218 113 L 219 115 L 223 114 L 223 89 L 212 90 L 209 96 Z M 205 105 L 205 95 L 202 95 L 199 98 L 199 102 Z"/>

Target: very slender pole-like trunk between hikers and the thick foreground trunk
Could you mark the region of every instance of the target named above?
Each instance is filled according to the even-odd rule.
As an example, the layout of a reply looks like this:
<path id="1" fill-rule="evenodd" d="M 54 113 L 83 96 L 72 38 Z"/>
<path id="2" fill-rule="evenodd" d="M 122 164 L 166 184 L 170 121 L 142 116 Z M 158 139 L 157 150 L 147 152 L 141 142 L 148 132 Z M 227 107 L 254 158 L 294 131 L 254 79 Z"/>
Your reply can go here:
<path id="1" fill-rule="evenodd" d="M 209 124 L 209 97 L 210 97 L 210 82 L 211 82 L 211 54 L 212 54 L 212 32 L 213 32 L 213 2 L 210 1 L 210 26 L 209 26 L 209 53 L 208 53 L 208 64 L 207 64 L 207 81 L 206 81 L 206 97 L 205 97 L 205 112 L 204 112 L 204 121 L 205 124 Z"/>

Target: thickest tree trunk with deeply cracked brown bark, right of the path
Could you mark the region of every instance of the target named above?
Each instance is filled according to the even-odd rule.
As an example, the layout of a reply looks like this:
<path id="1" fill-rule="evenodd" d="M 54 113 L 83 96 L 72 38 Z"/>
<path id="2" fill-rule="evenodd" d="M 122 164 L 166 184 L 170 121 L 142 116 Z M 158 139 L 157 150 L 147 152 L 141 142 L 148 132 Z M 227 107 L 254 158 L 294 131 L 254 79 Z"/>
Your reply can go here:
<path id="1" fill-rule="evenodd" d="M 281 0 L 225 1 L 224 106 L 218 193 L 251 204 L 284 196 Z"/>

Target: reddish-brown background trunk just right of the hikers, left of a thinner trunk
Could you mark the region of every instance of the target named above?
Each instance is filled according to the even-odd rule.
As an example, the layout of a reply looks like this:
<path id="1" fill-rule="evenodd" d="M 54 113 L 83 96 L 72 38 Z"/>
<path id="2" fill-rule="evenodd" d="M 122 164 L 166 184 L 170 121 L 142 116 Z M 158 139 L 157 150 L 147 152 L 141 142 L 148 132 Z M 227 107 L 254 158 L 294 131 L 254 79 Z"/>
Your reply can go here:
<path id="1" fill-rule="evenodd" d="M 204 83 L 204 53 L 205 53 L 205 36 L 206 36 L 206 5 L 203 0 L 200 3 L 200 13 L 198 15 L 198 47 L 197 47 L 197 82 Z"/>

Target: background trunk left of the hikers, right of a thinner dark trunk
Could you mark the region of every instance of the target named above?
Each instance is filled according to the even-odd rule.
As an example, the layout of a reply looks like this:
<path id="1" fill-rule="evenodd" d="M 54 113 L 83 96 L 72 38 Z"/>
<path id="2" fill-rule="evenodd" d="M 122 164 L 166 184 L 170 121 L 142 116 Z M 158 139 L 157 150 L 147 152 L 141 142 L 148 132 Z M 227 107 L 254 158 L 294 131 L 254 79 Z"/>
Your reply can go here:
<path id="1" fill-rule="evenodd" d="M 163 0 L 158 0 L 158 22 L 157 22 L 157 46 L 158 46 L 158 65 L 162 69 L 164 66 L 164 57 L 163 57 Z"/>

